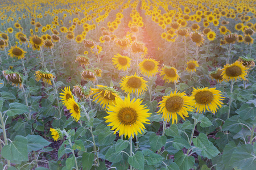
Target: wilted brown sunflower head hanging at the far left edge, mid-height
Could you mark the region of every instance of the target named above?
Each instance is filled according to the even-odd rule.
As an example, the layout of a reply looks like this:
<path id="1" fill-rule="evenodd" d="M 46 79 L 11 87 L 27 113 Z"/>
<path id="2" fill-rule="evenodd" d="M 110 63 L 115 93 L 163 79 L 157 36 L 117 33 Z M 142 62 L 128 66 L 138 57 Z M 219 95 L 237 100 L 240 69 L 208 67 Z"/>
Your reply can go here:
<path id="1" fill-rule="evenodd" d="M 3 72 L 3 76 L 5 76 L 5 78 L 7 79 L 7 81 L 11 82 L 11 85 L 12 86 L 16 86 L 19 88 L 22 87 L 22 82 L 23 82 L 23 79 L 22 79 L 22 75 L 20 75 L 18 72 L 14 72 L 14 71 L 11 71 L 11 70 L 4 70 Z"/>

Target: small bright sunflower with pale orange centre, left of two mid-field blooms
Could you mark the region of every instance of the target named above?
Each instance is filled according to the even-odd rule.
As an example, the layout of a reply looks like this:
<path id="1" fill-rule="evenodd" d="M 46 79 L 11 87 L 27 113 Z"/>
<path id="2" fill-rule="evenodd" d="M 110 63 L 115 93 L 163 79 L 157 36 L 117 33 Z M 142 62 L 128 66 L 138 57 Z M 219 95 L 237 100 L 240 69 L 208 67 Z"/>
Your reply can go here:
<path id="1" fill-rule="evenodd" d="M 131 58 L 118 53 L 112 58 L 112 62 L 118 70 L 126 71 L 127 68 L 130 68 Z"/>

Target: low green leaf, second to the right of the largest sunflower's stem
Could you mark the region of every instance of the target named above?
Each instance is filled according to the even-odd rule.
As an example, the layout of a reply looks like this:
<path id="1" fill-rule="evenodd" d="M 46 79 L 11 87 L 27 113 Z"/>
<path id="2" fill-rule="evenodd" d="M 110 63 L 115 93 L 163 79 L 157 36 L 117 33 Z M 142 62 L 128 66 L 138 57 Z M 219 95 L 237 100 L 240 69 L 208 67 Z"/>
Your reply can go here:
<path id="1" fill-rule="evenodd" d="M 155 154 L 153 151 L 151 150 L 142 150 L 143 155 L 144 155 L 144 159 L 146 160 L 148 165 L 155 165 L 158 164 L 159 162 L 162 162 L 162 160 L 164 159 L 162 156 Z"/>

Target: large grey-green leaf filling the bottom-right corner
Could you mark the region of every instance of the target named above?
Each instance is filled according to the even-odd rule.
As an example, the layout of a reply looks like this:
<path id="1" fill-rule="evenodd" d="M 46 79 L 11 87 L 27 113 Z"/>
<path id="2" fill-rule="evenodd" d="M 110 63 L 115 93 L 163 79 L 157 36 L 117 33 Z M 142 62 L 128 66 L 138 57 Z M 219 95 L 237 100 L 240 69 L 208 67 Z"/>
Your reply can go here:
<path id="1" fill-rule="evenodd" d="M 253 153 L 253 146 L 246 144 L 237 147 L 233 151 L 230 164 L 240 169 L 254 170 L 256 167 L 256 156 Z"/>

